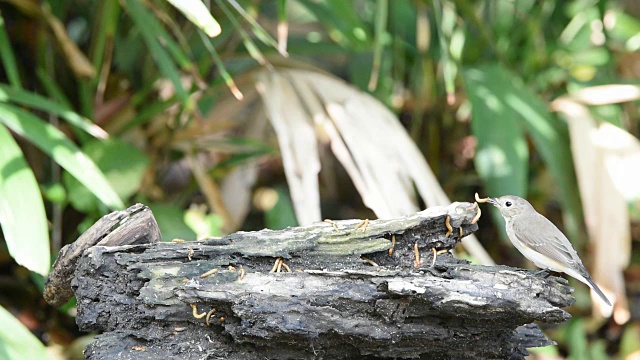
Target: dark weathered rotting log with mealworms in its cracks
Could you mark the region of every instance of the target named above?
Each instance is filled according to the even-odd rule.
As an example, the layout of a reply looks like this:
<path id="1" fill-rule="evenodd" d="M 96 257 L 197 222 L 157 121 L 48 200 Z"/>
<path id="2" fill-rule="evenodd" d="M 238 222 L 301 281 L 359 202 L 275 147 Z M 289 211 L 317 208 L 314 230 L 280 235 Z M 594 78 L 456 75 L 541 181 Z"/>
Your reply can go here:
<path id="1" fill-rule="evenodd" d="M 102 334 L 85 356 L 523 358 L 552 343 L 532 322 L 570 318 L 561 307 L 572 289 L 454 258 L 448 250 L 477 229 L 477 211 L 453 203 L 358 229 L 348 220 L 88 247 L 71 282 L 76 322 Z M 137 234 L 120 236 L 139 243 Z"/>

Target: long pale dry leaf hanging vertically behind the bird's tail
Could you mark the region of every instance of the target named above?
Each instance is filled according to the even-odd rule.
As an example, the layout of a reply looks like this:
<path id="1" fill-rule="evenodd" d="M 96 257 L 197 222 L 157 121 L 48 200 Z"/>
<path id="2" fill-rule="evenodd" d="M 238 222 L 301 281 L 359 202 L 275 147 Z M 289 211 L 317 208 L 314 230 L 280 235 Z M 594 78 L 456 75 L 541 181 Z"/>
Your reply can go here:
<path id="1" fill-rule="evenodd" d="M 563 114 L 569 125 L 585 223 L 593 246 L 592 275 L 608 295 L 614 295 L 614 320 L 622 324 L 629 319 L 622 272 L 629 262 L 631 229 L 624 196 L 607 167 L 615 152 L 603 146 L 609 142 L 586 106 L 560 98 L 552 108 Z M 594 304 L 603 316 L 609 315 L 610 309 L 599 302 Z"/>

